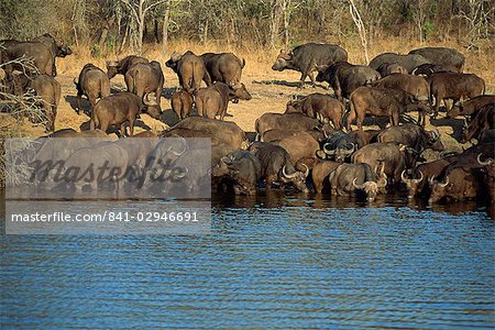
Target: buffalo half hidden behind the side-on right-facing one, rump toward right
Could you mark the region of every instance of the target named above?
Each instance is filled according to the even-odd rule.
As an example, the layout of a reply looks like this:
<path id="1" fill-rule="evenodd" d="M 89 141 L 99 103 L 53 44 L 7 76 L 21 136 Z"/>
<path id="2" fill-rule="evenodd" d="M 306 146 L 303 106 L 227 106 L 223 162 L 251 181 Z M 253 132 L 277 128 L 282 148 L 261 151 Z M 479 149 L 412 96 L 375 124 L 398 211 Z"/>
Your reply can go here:
<path id="1" fill-rule="evenodd" d="M 427 82 L 425 78 L 407 74 L 392 74 L 375 81 L 372 86 L 399 89 L 414 96 L 415 101 L 421 106 L 421 108 L 418 110 L 418 121 L 422 125 L 425 125 L 426 123 L 425 112 L 429 110 L 428 100 L 430 97 L 430 85 Z M 397 97 L 400 96 L 397 95 L 396 98 Z"/>

